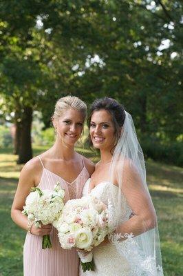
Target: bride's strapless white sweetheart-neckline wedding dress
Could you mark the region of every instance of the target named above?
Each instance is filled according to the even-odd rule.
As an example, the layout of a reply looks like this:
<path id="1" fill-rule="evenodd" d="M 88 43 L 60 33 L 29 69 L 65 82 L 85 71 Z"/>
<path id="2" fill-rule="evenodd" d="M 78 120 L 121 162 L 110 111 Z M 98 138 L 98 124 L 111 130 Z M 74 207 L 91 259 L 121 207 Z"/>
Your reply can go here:
<path id="1" fill-rule="evenodd" d="M 83 188 L 83 196 L 88 194 L 89 181 L 90 179 L 87 180 Z M 118 187 L 110 182 L 103 181 L 92 189 L 91 194 L 107 205 L 110 200 L 114 200 L 109 198 L 110 195 L 116 195 L 117 201 Z M 125 200 L 123 203 L 125 204 Z M 121 222 L 127 220 L 127 217 L 129 217 L 130 214 L 131 210 L 129 210 L 129 213 L 126 213 L 125 216 L 121 213 Z M 86 271 L 83 273 L 83 270 L 80 267 L 80 276 L 131 276 L 129 274 L 130 266 L 127 259 L 118 253 L 114 244 L 99 244 L 99 246 L 93 249 L 93 259 L 95 271 Z"/>

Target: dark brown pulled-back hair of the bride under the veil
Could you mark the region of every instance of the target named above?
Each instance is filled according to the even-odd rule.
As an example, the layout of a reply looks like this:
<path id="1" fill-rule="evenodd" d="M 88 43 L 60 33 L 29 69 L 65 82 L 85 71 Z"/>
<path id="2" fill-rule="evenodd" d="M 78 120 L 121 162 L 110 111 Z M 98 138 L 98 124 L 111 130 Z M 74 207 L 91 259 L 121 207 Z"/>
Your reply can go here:
<path id="1" fill-rule="evenodd" d="M 115 135 L 115 145 L 118 143 L 118 139 L 120 137 L 120 132 L 122 129 L 122 126 L 125 121 L 125 109 L 124 107 L 118 103 L 115 99 L 109 98 L 109 97 L 104 97 L 101 99 L 96 99 L 93 103 L 92 106 L 90 106 L 89 109 L 89 117 L 87 119 L 87 126 L 90 128 L 90 121 L 92 118 L 92 115 L 94 114 L 95 111 L 98 110 L 106 110 L 107 112 L 110 113 L 111 119 L 114 124 L 114 135 Z M 88 144 L 91 147 L 92 146 L 92 139 L 90 135 L 88 136 Z"/>

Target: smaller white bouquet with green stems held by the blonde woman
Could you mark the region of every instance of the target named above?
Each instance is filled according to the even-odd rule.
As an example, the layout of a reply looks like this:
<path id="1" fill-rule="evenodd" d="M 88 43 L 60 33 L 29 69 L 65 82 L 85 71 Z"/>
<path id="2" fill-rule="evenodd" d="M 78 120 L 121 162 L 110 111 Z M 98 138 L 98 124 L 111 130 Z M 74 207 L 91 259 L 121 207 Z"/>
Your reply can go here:
<path id="1" fill-rule="evenodd" d="M 65 192 L 59 182 L 54 186 L 54 190 L 41 190 L 40 188 L 31 188 L 30 194 L 25 200 L 23 206 L 23 215 L 28 216 L 28 221 L 32 221 L 39 228 L 41 224 L 52 224 L 58 219 L 63 210 L 63 198 Z M 51 248 L 50 235 L 44 235 L 42 248 Z"/>

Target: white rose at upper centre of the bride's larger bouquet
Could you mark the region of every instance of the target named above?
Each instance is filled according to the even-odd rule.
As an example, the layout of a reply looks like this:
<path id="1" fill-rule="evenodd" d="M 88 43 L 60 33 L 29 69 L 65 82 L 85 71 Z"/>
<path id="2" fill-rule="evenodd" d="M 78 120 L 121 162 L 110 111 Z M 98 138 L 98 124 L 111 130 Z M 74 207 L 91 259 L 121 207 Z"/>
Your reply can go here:
<path id="1" fill-rule="evenodd" d="M 86 209 L 80 213 L 80 219 L 87 226 L 94 226 L 98 223 L 98 212 L 94 209 Z"/>

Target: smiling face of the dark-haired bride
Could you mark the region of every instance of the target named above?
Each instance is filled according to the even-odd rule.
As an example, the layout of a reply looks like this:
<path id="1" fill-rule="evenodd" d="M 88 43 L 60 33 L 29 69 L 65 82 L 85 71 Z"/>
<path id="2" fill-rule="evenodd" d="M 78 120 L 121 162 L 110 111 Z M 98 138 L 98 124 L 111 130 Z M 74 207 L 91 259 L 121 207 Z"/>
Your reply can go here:
<path id="1" fill-rule="evenodd" d="M 94 111 L 89 133 L 94 148 L 99 150 L 111 150 L 115 142 L 115 128 L 111 115 L 107 110 Z"/>

